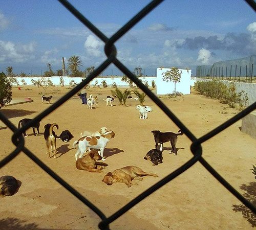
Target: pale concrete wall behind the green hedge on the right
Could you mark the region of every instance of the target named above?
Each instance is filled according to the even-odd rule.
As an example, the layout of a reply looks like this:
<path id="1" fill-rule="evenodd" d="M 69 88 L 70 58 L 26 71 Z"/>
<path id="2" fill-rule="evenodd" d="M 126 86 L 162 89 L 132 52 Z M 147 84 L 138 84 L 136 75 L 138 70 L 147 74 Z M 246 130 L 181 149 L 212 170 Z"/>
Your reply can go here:
<path id="1" fill-rule="evenodd" d="M 203 78 L 196 78 L 197 81 L 211 81 L 211 79 L 203 79 Z M 218 80 L 222 81 L 224 84 L 229 85 L 234 83 L 236 87 L 236 93 L 244 90 L 248 96 L 248 105 L 254 103 L 256 101 L 256 84 L 255 83 L 245 83 L 245 82 L 231 82 L 226 80 Z"/>

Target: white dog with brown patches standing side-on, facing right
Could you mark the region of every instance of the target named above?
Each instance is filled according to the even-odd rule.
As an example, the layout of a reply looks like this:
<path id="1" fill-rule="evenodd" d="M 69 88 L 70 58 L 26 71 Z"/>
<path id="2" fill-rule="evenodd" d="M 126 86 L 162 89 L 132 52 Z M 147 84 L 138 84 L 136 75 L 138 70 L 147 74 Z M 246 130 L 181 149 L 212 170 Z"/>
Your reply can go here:
<path id="1" fill-rule="evenodd" d="M 87 147 L 90 150 L 90 147 L 93 149 L 100 149 L 100 156 L 102 160 L 105 160 L 103 157 L 103 151 L 106 147 L 106 144 L 115 137 L 115 133 L 113 131 L 108 131 L 105 134 L 101 134 L 100 136 L 82 136 L 77 141 L 74 142 L 73 147 L 77 145 L 77 151 L 75 153 L 76 160 L 81 158 L 82 155 L 86 152 Z"/>

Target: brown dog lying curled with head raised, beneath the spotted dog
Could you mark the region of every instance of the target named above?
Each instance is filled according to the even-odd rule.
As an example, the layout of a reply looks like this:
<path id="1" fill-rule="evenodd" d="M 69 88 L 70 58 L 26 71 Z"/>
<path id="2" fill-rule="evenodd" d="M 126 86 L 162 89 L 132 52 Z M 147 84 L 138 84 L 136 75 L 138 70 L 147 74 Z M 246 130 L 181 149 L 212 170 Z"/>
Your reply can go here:
<path id="1" fill-rule="evenodd" d="M 96 162 L 96 160 L 101 160 L 102 157 L 96 150 L 90 151 L 87 155 L 78 158 L 76 160 L 76 168 L 80 170 L 87 170 L 89 172 L 102 172 L 101 170 L 108 166 L 103 162 Z"/>

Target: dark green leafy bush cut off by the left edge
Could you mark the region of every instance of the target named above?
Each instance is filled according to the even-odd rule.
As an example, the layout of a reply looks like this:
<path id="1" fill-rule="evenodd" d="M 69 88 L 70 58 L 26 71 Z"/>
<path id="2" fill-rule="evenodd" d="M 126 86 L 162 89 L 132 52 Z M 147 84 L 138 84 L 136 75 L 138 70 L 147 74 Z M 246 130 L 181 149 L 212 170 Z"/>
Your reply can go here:
<path id="1" fill-rule="evenodd" d="M 0 73 L 0 108 L 12 100 L 12 86 L 6 75 Z"/>

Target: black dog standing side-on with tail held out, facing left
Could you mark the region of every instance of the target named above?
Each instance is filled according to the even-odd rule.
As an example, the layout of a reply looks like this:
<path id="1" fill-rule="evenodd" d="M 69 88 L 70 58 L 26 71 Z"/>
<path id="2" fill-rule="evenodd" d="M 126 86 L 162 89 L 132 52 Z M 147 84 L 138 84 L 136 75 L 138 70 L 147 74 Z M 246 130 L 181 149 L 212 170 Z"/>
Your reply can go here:
<path id="1" fill-rule="evenodd" d="M 160 151 L 163 150 L 163 143 L 165 142 L 170 142 L 170 145 L 172 145 L 172 152 L 175 155 L 177 155 L 177 148 L 176 148 L 176 143 L 178 140 L 178 135 L 183 135 L 183 132 L 179 130 L 179 133 L 174 133 L 174 132 L 160 132 L 159 130 L 153 130 L 151 131 L 154 135 L 156 146 L 157 148 L 158 143 L 160 143 Z"/>

